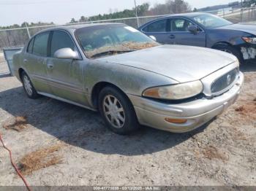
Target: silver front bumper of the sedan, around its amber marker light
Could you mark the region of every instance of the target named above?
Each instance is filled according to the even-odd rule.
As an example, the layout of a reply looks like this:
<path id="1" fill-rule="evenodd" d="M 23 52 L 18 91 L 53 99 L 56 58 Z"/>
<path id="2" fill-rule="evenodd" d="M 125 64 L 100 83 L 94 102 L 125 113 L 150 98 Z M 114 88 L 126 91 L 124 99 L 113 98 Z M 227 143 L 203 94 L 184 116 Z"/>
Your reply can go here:
<path id="1" fill-rule="evenodd" d="M 141 125 L 174 133 L 184 133 L 199 128 L 234 104 L 243 83 L 244 74 L 240 72 L 236 85 L 226 93 L 211 99 L 202 98 L 184 104 L 162 104 L 136 95 L 128 96 L 135 107 Z M 187 122 L 175 124 L 167 122 L 165 118 L 182 119 Z"/>

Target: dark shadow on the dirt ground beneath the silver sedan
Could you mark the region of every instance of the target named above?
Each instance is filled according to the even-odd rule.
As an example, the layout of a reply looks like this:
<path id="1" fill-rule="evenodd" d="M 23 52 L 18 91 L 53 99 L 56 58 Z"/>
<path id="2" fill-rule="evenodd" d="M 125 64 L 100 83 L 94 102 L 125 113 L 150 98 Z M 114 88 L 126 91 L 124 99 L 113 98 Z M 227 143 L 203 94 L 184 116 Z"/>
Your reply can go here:
<path id="1" fill-rule="evenodd" d="M 22 87 L 1 92 L 0 108 L 15 117 L 26 116 L 29 124 L 67 144 L 106 155 L 146 155 L 170 149 L 207 127 L 182 134 L 142 127 L 133 135 L 119 136 L 106 128 L 99 113 L 46 97 L 31 100 Z"/>

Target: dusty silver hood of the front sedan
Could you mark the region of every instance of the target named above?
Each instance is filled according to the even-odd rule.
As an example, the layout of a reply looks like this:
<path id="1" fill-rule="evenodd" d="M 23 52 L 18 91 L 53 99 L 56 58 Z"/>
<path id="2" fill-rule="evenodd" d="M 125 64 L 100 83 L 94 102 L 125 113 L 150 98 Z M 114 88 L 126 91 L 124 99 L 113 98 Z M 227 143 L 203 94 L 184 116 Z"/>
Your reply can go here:
<path id="1" fill-rule="evenodd" d="M 208 48 L 162 45 L 97 60 L 151 71 L 178 82 L 190 82 L 222 69 L 236 58 Z"/>

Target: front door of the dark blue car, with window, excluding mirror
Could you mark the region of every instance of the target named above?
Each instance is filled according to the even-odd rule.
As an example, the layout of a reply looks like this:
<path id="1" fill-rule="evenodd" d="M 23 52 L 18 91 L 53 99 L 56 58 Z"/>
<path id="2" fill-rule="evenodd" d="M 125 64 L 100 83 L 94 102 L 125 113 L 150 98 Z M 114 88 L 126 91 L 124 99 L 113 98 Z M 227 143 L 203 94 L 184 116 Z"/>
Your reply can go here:
<path id="1" fill-rule="evenodd" d="M 197 34 L 189 31 L 189 26 L 195 25 L 185 18 L 172 18 L 170 20 L 170 36 L 172 44 L 206 47 L 206 33 L 198 28 Z"/>

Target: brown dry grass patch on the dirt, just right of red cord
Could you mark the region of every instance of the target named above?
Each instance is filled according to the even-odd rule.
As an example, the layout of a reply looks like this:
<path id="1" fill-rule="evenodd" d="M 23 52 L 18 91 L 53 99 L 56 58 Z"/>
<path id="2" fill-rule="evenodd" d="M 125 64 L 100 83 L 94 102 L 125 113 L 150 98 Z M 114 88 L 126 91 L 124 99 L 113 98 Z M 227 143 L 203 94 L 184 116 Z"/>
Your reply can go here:
<path id="1" fill-rule="evenodd" d="M 25 155 L 19 162 L 20 171 L 27 175 L 41 168 L 61 163 L 62 157 L 56 155 L 61 147 L 63 147 L 63 144 L 57 144 Z"/>

